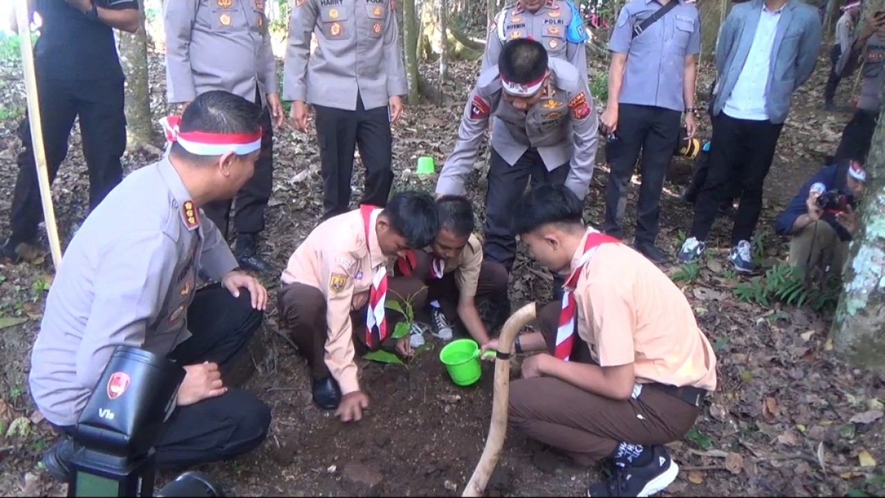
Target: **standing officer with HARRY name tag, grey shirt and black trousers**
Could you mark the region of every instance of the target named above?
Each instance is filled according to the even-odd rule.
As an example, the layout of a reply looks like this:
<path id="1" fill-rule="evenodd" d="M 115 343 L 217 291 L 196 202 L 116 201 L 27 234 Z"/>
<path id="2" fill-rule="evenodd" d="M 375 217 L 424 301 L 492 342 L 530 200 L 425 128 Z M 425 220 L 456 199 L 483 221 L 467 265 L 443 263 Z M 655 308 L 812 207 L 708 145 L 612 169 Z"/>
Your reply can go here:
<path id="1" fill-rule="evenodd" d="M 311 55 L 311 35 L 317 49 Z M 323 219 L 350 211 L 354 147 L 366 166 L 360 204 L 386 206 L 393 183 L 390 123 L 408 92 L 393 0 L 296 0 L 289 23 L 283 99 L 295 128 L 316 113 Z"/>

